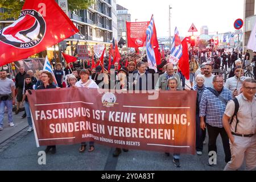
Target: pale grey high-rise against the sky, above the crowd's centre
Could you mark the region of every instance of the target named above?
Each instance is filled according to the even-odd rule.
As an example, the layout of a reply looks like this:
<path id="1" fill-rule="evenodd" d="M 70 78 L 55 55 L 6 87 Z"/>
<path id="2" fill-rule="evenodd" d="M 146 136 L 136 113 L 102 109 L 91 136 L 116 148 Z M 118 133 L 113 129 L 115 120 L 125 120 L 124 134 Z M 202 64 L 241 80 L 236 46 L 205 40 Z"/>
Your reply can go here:
<path id="1" fill-rule="evenodd" d="M 118 40 L 121 38 L 127 40 L 126 22 L 131 22 L 131 14 L 125 7 L 117 5 Z"/>

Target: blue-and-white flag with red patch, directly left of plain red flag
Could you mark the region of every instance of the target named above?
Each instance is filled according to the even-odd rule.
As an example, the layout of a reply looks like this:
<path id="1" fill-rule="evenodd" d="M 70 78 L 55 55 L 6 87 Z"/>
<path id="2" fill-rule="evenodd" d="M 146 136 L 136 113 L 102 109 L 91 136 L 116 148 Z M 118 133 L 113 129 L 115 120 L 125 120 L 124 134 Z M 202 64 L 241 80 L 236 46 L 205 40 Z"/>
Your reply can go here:
<path id="1" fill-rule="evenodd" d="M 171 46 L 171 55 L 169 59 L 169 63 L 173 63 L 174 65 L 177 65 L 179 63 L 180 57 L 182 56 L 182 44 L 179 37 L 179 31 L 177 30 L 177 27 L 175 27 L 174 32 L 174 39 L 172 39 L 172 46 Z"/>

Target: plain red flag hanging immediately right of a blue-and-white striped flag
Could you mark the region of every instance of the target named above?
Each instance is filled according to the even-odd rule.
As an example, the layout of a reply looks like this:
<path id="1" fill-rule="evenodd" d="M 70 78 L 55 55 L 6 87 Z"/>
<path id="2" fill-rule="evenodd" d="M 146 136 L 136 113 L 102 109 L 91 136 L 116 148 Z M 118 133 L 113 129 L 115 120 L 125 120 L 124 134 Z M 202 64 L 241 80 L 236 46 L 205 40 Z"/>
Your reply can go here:
<path id="1" fill-rule="evenodd" d="M 189 57 L 188 57 L 188 44 L 187 39 L 184 39 L 182 42 L 182 56 L 179 60 L 179 68 L 184 77 L 189 80 Z"/>

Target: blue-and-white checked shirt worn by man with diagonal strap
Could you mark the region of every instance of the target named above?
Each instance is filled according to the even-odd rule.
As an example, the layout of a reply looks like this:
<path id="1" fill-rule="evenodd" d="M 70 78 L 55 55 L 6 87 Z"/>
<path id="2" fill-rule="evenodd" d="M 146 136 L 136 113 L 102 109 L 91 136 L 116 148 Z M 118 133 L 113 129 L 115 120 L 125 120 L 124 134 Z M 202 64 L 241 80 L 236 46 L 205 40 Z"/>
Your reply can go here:
<path id="1" fill-rule="evenodd" d="M 229 89 L 223 88 L 220 96 L 224 98 L 226 102 L 232 100 L 232 93 Z M 223 127 L 222 117 L 226 105 L 217 98 L 210 90 L 205 90 L 200 102 L 199 117 L 206 116 L 206 122 L 213 127 Z"/>

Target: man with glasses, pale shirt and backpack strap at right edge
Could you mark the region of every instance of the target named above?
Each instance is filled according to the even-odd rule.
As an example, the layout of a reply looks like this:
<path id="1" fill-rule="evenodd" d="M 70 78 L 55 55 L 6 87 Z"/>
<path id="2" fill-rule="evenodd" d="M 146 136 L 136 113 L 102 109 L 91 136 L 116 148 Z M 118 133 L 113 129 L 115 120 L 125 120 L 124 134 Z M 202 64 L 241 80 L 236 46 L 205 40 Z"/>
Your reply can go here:
<path id="1" fill-rule="evenodd" d="M 223 123 L 230 140 L 231 161 L 226 171 L 235 171 L 242 166 L 245 158 L 246 170 L 256 168 L 256 80 L 247 78 L 242 93 L 226 106 Z M 239 105 L 239 106 L 238 106 Z M 237 110 L 237 114 L 235 113 Z M 234 115 L 236 117 L 234 117 Z M 230 125 L 230 118 L 233 122 Z"/>

